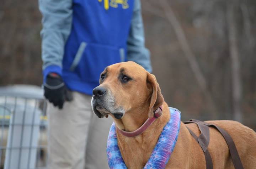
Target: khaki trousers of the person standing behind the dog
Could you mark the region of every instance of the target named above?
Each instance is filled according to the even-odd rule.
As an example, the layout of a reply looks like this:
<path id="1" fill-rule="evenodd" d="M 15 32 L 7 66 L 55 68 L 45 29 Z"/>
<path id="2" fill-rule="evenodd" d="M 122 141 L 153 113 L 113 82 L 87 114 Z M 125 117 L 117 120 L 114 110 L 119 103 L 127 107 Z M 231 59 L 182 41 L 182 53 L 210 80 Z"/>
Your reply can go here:
<path id="1" fill-rule="evenodd" d="M 48 169 L 107 169 L 107 136 L 113 122 L 99 119 L 91 96 L 73 92 L 59 110 L 48 104 Z"/>

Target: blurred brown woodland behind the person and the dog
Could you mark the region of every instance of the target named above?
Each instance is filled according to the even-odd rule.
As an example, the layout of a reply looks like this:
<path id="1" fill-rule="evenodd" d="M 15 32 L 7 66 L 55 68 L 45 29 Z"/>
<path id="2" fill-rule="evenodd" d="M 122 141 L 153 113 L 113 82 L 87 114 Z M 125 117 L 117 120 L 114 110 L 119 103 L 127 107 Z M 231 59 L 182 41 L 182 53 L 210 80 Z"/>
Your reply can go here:
<path id="1" fill-rule="evenodd" d="M 182 120 L 256 129 L 256 1 L 142 0 L 146 46 Z M 42 84 L 37 0 L 0 2 L 0 85 Z"/>

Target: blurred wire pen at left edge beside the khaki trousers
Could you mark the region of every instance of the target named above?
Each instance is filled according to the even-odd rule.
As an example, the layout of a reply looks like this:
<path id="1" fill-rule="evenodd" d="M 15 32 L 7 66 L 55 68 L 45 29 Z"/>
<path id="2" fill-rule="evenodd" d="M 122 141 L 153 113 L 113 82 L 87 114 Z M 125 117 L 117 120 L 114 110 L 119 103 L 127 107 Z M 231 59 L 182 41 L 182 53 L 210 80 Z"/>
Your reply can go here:
<path id="1" fill-rule="evenodd" d="M 30 88 L 0 89 L 0 169 L 46 168 L 47 102 Z"/>

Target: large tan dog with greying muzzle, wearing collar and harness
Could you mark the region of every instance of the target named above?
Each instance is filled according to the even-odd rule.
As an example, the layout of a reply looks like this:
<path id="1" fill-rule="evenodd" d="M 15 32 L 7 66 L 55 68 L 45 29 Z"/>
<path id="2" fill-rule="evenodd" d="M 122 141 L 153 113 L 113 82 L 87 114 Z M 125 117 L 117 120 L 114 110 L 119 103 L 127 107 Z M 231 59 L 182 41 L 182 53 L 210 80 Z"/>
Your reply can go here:
<path id="1" fill-rule="evenodd" d="M 153 110 L 162 105 L 162 116 L 141 135 L 126 137 L 117 130 L 118 146 L 126 166 L 129 169 L 143 168 L 170 119 L 168 105 L 155 76 L 134 62 L 113 64 L 102 72 L 100 85 L 93 92 L 94 113 L 99 118 L 112 116 L 116 127 L 125 131 L 138 129 L 146 119 L 153 117 Z M 256 133 L 252 129 L 230 120 L 208 123 L 218 125 L 230 134 L 245 169 L 256 168 Z M 197 136 L 200 134 L 196 124 L 181 123 L 178 140 L 166 165 L 168 169 L 206 168 L 203 151 L 186 126 Z M 234 168 L 228 146 L 214 128 L 210 128 L 208 151 L 215 169 Z"/>

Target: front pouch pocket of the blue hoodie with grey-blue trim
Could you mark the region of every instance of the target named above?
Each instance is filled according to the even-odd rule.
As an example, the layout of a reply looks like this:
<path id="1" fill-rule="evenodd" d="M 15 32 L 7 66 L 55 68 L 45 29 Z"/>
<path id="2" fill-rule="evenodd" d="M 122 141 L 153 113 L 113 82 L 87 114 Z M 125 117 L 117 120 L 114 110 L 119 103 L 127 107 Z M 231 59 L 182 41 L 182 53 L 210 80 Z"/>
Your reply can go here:
<path id="1" fill-rule="evenodd" d="M 107 66 L 123 61 L 125 61 L 124 48 L 82 42 L 70 71 L 76 73 L 82 81 L 95 82 L 99 80 L 100 73 Z"/>

